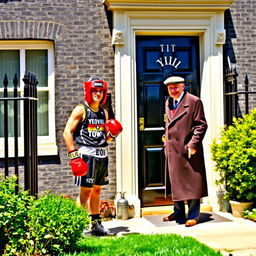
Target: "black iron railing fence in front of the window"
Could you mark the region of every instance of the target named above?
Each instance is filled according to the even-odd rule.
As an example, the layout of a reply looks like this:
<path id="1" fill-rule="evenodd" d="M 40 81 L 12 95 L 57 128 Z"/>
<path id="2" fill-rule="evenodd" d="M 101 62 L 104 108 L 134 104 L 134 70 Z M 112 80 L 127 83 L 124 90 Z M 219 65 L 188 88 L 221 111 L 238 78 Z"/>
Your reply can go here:
<path id="1" fill-rule="evenodd" d="M 30 72 L 25 72 L 24 78 L 24 94 L 18 97 L 18 77 L 14 75 L 13 79 L 13 97 L 8 97 L 10 88 L 8 88 L 7 74 L 3 80 L 3 101 L 4 105 L 4 174 L 9 176 L 9 123 L 8 123 L 8 104 L 13 102 L 13 139 L 14 139 L 14 172 L 18 177 L 19 183 L 19 145 L 18 145 L 18 102 L 24 102 L 24 189 L 29 190 L 31 195 L 38 194 L 38 157 L 37 157 L 37 78 Z"/>

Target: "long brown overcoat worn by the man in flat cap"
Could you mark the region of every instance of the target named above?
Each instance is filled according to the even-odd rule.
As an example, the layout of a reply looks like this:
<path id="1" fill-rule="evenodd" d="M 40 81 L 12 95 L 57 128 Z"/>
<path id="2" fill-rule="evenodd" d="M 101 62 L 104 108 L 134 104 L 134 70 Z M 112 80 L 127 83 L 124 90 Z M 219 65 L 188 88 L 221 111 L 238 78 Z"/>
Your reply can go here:
<path id="1" fill-rule="evenodd" d="M 165 154 L 173 201 L 207 196 L 202 140 L 207 130 L 201 100 L 185 93 L 175 114 L 172 98 L 166 101 Z M 171 106 L 171 107 L 170 107 Z M 196 153 L 188 158 L 188 147 Z"/>

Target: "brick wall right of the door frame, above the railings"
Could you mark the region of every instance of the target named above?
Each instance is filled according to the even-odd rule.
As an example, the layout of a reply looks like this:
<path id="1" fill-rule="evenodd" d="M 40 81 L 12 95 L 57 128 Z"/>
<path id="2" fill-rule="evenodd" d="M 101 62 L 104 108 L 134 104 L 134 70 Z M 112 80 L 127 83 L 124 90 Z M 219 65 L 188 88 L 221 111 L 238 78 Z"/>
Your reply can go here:
<path id="1" fill-rule="evenodd" d="M 231 64 L 236 66 L 238 90 L 244 90 L 245 75 L 249 90 L 256 91 L 256 1 L 235 0 L 225 13 L 226 50 Z M 256 108 L 256 95 L 249 96 L 249 109 Z M 244 95 L 239 96 L 239 108 L 245 113 Z"/>

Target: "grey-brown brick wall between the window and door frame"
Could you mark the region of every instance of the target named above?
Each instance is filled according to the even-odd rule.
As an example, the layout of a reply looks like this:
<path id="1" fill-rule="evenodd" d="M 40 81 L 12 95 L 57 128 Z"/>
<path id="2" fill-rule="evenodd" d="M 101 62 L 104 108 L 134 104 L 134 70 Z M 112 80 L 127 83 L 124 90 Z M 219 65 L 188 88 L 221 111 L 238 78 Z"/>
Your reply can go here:
<path id="1" fill-rule="evenodd" d="M 76 196 L 78 188 L 73 185 L 62 139 L 65 122 L 83 100 L 82 83 L 91 75 L 109 82 L 114 104 L 114 53 L 105 8 L 101 0 L 1 1 L 0 17 L 0 40 L 54 41 L 59 156 L 39 159 L 39 191 Z M 112 199 L 116 193 L 114 142 L 109 145 L 109 158 L 110 185 L 104 188 L 102 197 Z"/>

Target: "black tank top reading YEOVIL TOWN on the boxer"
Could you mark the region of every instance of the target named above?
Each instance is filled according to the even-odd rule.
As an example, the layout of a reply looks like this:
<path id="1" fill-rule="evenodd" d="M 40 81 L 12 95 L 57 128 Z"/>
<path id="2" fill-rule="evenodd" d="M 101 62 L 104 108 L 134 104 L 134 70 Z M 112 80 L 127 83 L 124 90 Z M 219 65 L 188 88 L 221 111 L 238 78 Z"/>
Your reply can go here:
<path id="1" fill-rule="evenodd" d="M 78 124 L 74 132 L 74 140 L 78 145 L 90 147 L 106 147 L 108 145 L 105 134 L 106 116 L 103 108 L 94 112 L 86 104 L 85 119 Z"/>

